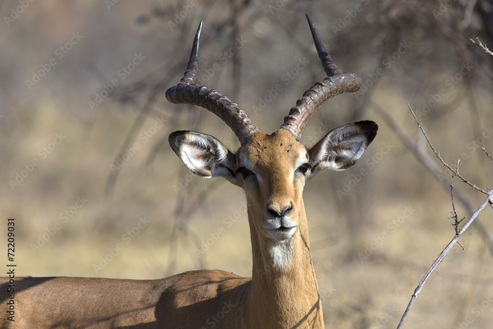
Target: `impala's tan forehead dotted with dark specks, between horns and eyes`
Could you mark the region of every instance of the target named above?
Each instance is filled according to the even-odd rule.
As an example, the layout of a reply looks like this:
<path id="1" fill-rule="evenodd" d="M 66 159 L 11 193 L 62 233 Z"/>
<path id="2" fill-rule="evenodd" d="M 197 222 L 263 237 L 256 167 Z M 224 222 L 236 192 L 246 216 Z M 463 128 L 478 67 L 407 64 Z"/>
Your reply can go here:
<path id="1" fill-rule="evenodd" d="M 268 164 L 272 161 L 295 162 L 300 156 L 308 157 L 308 151 L 290 132 L 279 129 L 272 135 L 261 131 L 254 133 L 238 155 L 238 160 L 246 156 L 252 164 Z"/>

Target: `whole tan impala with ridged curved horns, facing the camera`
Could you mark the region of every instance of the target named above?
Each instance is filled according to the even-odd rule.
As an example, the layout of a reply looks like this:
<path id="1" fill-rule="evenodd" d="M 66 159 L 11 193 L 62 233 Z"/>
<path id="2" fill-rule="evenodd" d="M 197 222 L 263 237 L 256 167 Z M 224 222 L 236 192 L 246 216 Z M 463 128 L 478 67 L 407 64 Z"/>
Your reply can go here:
<path id="1" fill-rule="evenodd" d="M 2 328 L 323 328 L 303 187 L 324 170 L 354 165 L 378 127 L 373 121 L 354 122 L 332 130 L 310 149 L 300 143 L 309 119 L 327 99 L 361 86 L 357 74 L 337 68 L 307 18 L 327 77 L 305 92 L 271 135 L 227 97 L 195 84 L 202 23 L 183 78 L 166 92 L 171 103 L 210 110 L 240 140 L 233 153 L 197 132 L 176 131 L 169 139 L 193 173 L 221 176 L 245 190 L 252 277 L 198 270 L 160 280 L 19 278 L 15 322 L 6 320 L 8 278 L 3 278 Z"/>

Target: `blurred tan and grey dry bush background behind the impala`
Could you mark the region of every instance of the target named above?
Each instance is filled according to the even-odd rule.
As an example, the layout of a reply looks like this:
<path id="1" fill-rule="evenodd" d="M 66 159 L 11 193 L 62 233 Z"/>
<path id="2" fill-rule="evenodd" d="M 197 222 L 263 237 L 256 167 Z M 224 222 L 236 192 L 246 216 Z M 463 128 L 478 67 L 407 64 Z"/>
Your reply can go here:
<path id="1" fill-rule="evenodd" d="M 244 192 L 192 176 L 167 141 L 186 129 L 239 146 L 207 110 L 165 99 L 201 20 L 202 83 L 266 132 L 324 77 L 305 13 L 337 65 L 363 78 L 360 92 L 323 105 L 303 136 L 311 146 L 348 122 L 379 124 L 358 164 L 305 187 L 327 327 L 396 327 L 455 234 L 452 174 L 438 162 L 441 174 L 431 174 L 395 133 L 435 161 L 406 101 L 445 161 L 460 159 L 465 178 L 493 185 L 481 149 L 493 153 L 493 56 L 469 40 L 493 44 L 491 0 L 6 0 L 0 13 L 0 213 L 16 220 L 22 275 L 251 275 Z M 484 200 L 454 183 L 473 209 Z M 480 216 L 488 234 L 492 218 L 491 208 Z M 0 232 L 6 241 L 6 224 Z M 493 249 L 476 226 L 461 243 L 404 328 L 491 328 Z"/>

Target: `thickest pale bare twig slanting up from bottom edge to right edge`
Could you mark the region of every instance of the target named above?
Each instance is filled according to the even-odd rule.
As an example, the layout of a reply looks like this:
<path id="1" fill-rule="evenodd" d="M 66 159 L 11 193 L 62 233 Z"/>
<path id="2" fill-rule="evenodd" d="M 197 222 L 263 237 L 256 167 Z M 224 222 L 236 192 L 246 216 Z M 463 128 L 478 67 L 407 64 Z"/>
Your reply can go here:
<path id="1" fill-rule="evenodd" d="M 486 205 L 488 205 L 489 203 L 492 203 L 492 202 L 493 202 L 493 190 L 491 190 L 488 193 L 488 197 L 485 199 L 485 201 L 483 201 L 481 206 L 479 206 L 479 208 L 474 212 L 474 214 L 471 216 L 471 218 L 465 222 L 465 224 L 458 231 L 458 234 L 456 234 L 454 236 L 454 238 L 449 242 L 447 247 L 445 247 L 445 249 L 440 253 L 440 255 L 438 255 L 438 257 L 435 259 L 433 264 L 431 264 L 431 267 L 428 269 L 428 271 L 424 275 L 423 279 L 421 279 L 420 284 L 418 285 L 418 287 L 416 287 L 416 289 L 415 289 L 415 291 L 411 297 L 411 300 L 409 301 L 409 304 L 407 305 L 406 311 L 402 315 L 402 318 L 399 322 L 399 325 L 397 326 L 397 329 L 402 328 L 402 325 L 404 324 L 404 321 L 406 320 L 406 317 L 407 317 L 409 311 L 411 310 L 411 307 L 413 306 L 413 303 L 416 300 L 416 297 L 418 296 L 418 294 L 423 289 L 423 285 L 426 282 L 426 280 L 428 280 L 431 273 L 433 273 L 433 271 L 438 266 L 438 264 L 440 264 L 440 262 L 443 260 L 443 258 L 445 258 L 445 256 L 447 256 L 447 254 L 452 249 L 454 244 L 456 244 L 458 242 L 458 239 L 460 238 L 460 236 L 465 232 L 465 230 L 474 221 L 474 219 L 476 219 L 478 217 L 479 213 L 481 213 L 481 211 L 483 211 L 483 209 L 485 209 Z"/>

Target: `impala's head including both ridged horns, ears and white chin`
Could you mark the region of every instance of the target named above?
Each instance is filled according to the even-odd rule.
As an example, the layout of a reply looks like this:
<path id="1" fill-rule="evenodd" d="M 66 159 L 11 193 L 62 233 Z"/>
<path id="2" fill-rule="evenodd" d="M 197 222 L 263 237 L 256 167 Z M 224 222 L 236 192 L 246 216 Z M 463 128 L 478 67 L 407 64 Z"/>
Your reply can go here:
<path id="1" fill-rule="evenodd" d="M 227 97 L 195 84 L 202 23 L 183 78 L 166 92 L 172 103 L 198 105 L 218 115 L 239 138 L 241 147 L 236 153 L 212 136 L 191 131 L 174 132 L 170 144 L 198 176 L 222 176 L 245 189 L 251 233 L 267 244 L 283 243 L 307 230 L 302 200 L 305 182 L 324 170 L 354 165 L 378 129 L 373 121 L 359 121 L 332 130 L 311 149 L 300 143 L 308 121 L 326 100 L 361 86 L 359 75 L 342 73 L 336 67 L 307 18 L 328 77 L 305 92 L 273 134 L 260 131 Z"/>

